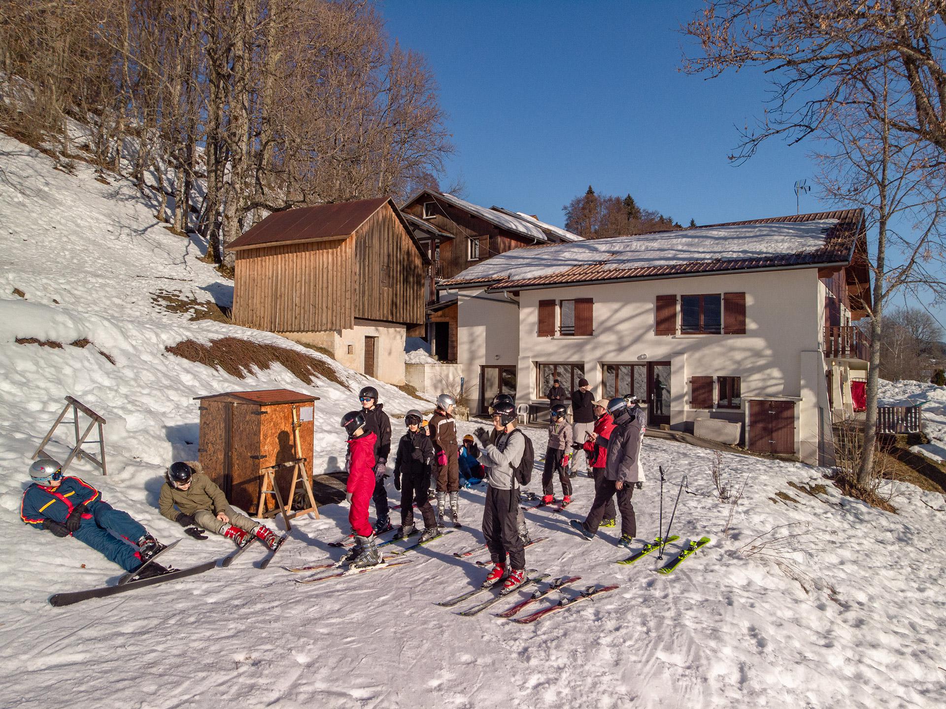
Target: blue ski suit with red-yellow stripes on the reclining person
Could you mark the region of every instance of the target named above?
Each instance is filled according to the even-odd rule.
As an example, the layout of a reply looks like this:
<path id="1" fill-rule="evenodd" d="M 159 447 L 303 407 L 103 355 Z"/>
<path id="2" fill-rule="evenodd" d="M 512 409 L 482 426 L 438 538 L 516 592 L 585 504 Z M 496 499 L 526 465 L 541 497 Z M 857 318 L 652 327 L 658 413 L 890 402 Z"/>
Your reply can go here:
<path id="1" fill-rule="evenodd" d="M 141 555 L 134 541 L 147 534 L 145 527 L 132 520 L 128 512 L 104 502 L 95 487 L 79 478 L 64 477 L 59 487 L 44 487 L 38 483 L 27 487 L 20 505 L 20 518 L 26 524 L 43 529 L 46 519 L 64 524 L 79 504 L 84 504 L 87 511 L 72 536 L 126 571 L 141 566 Z"/>

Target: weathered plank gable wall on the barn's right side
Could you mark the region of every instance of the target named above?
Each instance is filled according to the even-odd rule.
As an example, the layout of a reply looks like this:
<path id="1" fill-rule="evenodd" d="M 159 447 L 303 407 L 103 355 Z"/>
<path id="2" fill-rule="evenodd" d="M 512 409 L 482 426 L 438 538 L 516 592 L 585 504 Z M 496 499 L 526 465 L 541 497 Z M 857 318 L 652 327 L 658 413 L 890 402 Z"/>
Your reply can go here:
<path id="1" fill-rule="evenodd" d="M 423 323 L 423 257 L 394 212 L 378 209 L 356 229 L 352 240 L 358 274 L 355 317 Z"/>

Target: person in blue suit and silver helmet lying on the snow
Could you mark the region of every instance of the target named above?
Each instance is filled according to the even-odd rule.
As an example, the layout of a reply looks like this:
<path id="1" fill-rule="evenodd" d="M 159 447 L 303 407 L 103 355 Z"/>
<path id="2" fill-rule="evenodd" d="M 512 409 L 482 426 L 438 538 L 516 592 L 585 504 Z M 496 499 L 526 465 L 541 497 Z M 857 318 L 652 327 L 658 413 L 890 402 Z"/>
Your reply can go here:
<path id="1" fill-rule="evenodd" d="M 24 523 L 48 529 L 57 537 L 75 537 L 125 571 L 135 571 L 164 549 L 128 512 L 102 500 L 95 487 L 77 477 L 63 476 L 55 460 L 37 460 L 29 467 L 29 477 L 33 484 L 26 488 L 20 505 Z M 153 563 L 140 578 L 166 573 L 165 567 Z"/>

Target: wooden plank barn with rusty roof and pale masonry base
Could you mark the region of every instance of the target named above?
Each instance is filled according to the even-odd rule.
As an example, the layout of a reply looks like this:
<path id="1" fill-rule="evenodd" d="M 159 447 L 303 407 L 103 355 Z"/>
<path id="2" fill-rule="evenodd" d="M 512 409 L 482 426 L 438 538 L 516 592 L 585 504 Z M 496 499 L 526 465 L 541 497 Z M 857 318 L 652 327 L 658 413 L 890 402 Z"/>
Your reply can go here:
<path id="1" fill-rule="evenodd" d="M 391 199 L 275 212 L 228 248 L 237 325 L 404 383 L 405 338 L 423 334 L 429 258 Z"/>

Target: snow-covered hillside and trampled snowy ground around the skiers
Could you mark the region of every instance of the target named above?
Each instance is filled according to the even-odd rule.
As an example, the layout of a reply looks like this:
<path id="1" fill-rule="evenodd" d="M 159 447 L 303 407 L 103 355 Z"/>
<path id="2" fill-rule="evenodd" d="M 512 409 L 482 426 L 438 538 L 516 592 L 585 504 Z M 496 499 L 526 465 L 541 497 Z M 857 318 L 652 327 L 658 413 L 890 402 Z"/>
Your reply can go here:
<path id="1" fill-rule="evenodd" d="M 820 470 L 726 454 L 724 478 L 736 487 L 747 479 L 733 508 L 714 496 L 713 453 L 650 438 L 648 481 L 634 495 L 639 536 L 657 534 L 657 467 L 663 466 L 664 523 L 686 474 L 693 494 L 681 495 L 673 532 L 681 541 L 706 534 L 712 543 L 670 576 L 655 573 L 653 557 L 614 564 L 626 556 L 613 545 L 618 530 L 602 530 L 602 540 L 587 542 L 569 528 L 593 496 L 591 481 L 577 478 L 576 502 L 565 513 L 526 512 L 533 536 L 547 538 L 528 550 L 528 566 L 582 576 L 573 589 L 621 587 L 533 626 L 490 612 L 465 618 L 432 605 L 485 575 L 475 564 L 484 555 L 452 556 L 482 541 L 482 488 L 462 492 L 464 529 L 412 553 L 405 568 L 302 586 L 275 564 L 254 569 L 248 551 L 230 569 L 49 607 L 51 593 L 114 582 L 119 573 L 78 541 L 28 528 L 18 517 L 29 455 L 63 396 L 77 396 L 109 421 L 109 476 L 84 464 L 74 470 L 170 540 L 181 530 L 155 504 L 167 463 L 196 452 L 192 397 L 256 387 L 311 391 L 321 397 L 316 467 L 332 467 L 329 456 L 343 455 L 338 417 L 354 405 L 351 389 L 366 381 L 331 361 L 351 389 L 328 381 L 308 387 L 279 367 L 240 381 L 166 353 L 165 346 L 187 338 L 223 335 L 295 346 L 266 333 L 190 322 L 152 303 L 159 289 L 224 301 L 227 284 L 197 260 L 199 244 L 154 223 L 130 186 L 100 185 L 83 166 L 70 176 L 52 165 L 0 136 L 4 706 L 941 705 L 942 495 L 897 485 L 893 503 L 900 514 L 893 515 L 844 498 L 830 484 L 817 487 L 824 483 Z M 17 337 L 64 346 L 19 345 Z M 68 344 L 82 338 L 93 345 Z M 395 412 L 429 409 L 380 388 Z M 396 420 L 394 428 L 400 430 Z M 461 433 L 473 428 L 462 424 Z M 529 434 L 542 457 L 546 435 Z M 536 470 L 529 489 L 539 491 L 539 476 Z M 557 482 L 555 488 L 560 492 Z M 322 512 L 321 520 L 294 525 L 281 563 L 338 558 L 327 542 L 346 531 L 347 508 L 327 505 Z M 758 549 L 790 535 L 800 536 Z M 217 537 L 185 538 L 169 556 L 184 566 L 230 548 Z"/>

